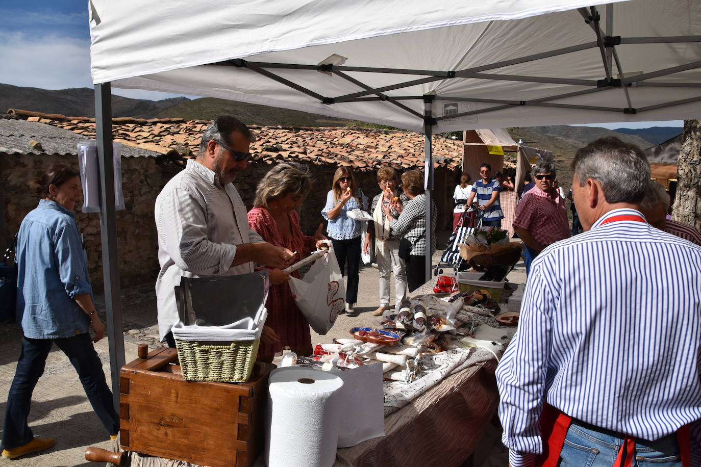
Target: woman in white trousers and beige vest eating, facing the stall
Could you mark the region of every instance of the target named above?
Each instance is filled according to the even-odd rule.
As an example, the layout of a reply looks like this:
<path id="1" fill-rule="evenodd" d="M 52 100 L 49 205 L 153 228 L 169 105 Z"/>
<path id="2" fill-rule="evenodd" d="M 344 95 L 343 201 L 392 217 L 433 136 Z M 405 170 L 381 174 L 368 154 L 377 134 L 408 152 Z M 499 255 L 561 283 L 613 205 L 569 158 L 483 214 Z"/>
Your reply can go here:
<path id="1" fill-rule="evenodd" d="M 368 253 L 372 246 L 372 235 L 375 235 L 375 251 L 377 253 L 377 268 L 380 270 L 380 306 L 372 312 L 373 316 L 380 316 L 385 310 L 390 309 L 390 270 L 395 274 L 395 299 L 397 305 L 407 295 L 407 271 L 404 267 L 404 260 L 399 257 L 399 241 L 390 229 L 390 221 L 385 216 L 383 207 L 392 203 L 395 198 L 402 202 L 409 201 L 407 195 L 399 195 L 397 190 L 397 174 L 392 167 L 382 167 L 377 171 L 377 184 L 380 187 L 379 195 L 372 199 L 373 222 L 370 223 L 365 235 L 365 244 L 362 248 Z M 393 216 L 399 216 L 395 210 Z"/>

